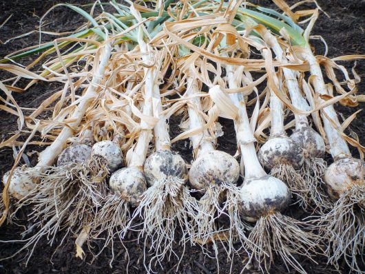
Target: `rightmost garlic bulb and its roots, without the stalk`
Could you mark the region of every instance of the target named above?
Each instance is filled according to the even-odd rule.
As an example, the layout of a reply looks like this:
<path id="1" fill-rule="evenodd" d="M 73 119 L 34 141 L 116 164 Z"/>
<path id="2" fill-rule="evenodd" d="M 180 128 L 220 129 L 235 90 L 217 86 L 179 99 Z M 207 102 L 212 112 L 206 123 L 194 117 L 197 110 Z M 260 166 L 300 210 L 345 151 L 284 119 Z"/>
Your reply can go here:
<path id="1" fill-rule="evenodd" d="M 331 145 L 331 143 L 330 143 Z M 365 162 L 347 156 L 337 158 L 324 173 L 333 208 L 318 219 L 320 231 L 328 240 L 328 262 L 340 269 L 343 257 L 355 273 L 363 273 L 365 252 Z"/>

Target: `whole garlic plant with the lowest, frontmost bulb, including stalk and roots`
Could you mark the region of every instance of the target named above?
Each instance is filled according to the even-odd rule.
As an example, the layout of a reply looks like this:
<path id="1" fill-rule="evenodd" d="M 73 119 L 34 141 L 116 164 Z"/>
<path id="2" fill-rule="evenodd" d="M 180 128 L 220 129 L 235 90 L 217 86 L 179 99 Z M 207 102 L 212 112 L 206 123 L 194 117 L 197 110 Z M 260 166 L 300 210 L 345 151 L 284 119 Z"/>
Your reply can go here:
<path id="1" fill-rule="evenodd" d="M 235 67 L 225 67 L 229 87 L 239 87 L 234 73 Z M 222 92 L 218 85 L 211 89 Z M 249 262 L 258 260 L 260 270 L 268 272 L 275 253 L 286 266 L 293 267 L 299 273 L 306 273 L 293 254 L 311 258 L 310 251 L 315 246 L 314 235 L 302 231 L 301 222 L 280 213 L 289 205 L 291 193 L 284 182 L 267 175 L 260 165 L 246 105 L 238 94 L 230 94 L 230 98 L 239 109 L 235 126 L 237 143 L 244 162 L 244 182 L 236 197 L 237 207 L 243 220 L 255 222 L 248 240 L 243 242 L 244 246 L 251 249 Z"/>

